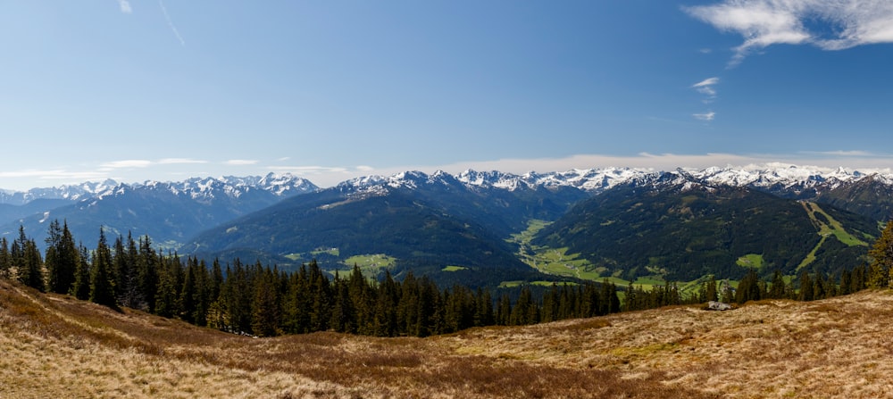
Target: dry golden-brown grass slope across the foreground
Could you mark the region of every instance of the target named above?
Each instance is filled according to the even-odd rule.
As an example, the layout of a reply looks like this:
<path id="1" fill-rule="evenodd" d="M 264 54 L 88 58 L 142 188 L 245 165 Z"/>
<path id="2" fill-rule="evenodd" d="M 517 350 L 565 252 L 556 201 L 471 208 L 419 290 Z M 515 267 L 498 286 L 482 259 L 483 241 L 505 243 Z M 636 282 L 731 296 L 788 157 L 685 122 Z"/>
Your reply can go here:
<path id="1" fill-rule="evenodd" d="M 0 281 L 0 398 L 893 397 L 893 295 L 445 337 L 238 337 Z"/>

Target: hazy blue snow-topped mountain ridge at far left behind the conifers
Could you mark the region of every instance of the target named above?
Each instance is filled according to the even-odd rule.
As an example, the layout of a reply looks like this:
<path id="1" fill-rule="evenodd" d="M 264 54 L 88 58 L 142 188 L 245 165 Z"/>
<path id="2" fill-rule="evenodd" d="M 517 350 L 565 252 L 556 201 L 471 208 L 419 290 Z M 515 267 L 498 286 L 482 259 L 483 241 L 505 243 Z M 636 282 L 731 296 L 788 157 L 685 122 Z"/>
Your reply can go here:
<path id="1" fill-rule="evenodd" d="M 72 234 L 85 243 L 93 242 L 102 227 L 114 235 L 148 235 L 156 244 L 176 248 L 184 237 L 270 206 L 288 196 L 316 189 L 318 187 L 307 179 L 271 173 L 242 178 L 146 181 L 134 185 L 107 180 L 101 184 L 30 190 L 25 195 L 13 197 L 43 195 L 40 201 L 47 207 L 40 209 L 31 205 L 40 204 L 38 201 L 12 208 L 12 205 L 0 207 L 7 214 L 17 210 L 29 212 L 15 220 L 5 220 L 0 224 L 0 234 L 9 236 L 22 226 L 30 236 L 42 237 L 46 233 L 47 220 L 65 220 Z M 60 203 L 62 199 L 69 202 Z M 42 244 L 42 241 L 38 239 L 38 243 Z"/>

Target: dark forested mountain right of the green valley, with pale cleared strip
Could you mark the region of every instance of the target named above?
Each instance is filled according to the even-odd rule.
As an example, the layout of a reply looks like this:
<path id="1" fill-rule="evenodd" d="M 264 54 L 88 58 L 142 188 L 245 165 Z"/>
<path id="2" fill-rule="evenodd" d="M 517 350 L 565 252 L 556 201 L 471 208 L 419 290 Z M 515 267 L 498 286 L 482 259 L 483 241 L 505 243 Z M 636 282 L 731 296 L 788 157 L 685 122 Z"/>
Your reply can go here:
<path id="1" fill-rule="evenodd" d="M 822 230 L 831 224 L 840 234 Z M 836 275 L 862 262 L 878 232 L 876 221 L 831 206 L 813 210 L 753 188 L 667 173 L 577 204 L 541 230 L 534 244 L 568 247 L 630 280 L 660 275 L 688 281 L 708 274 L 740 278 L 747 272 L 742 266 L 789 275 L 809 266 Z"/>

